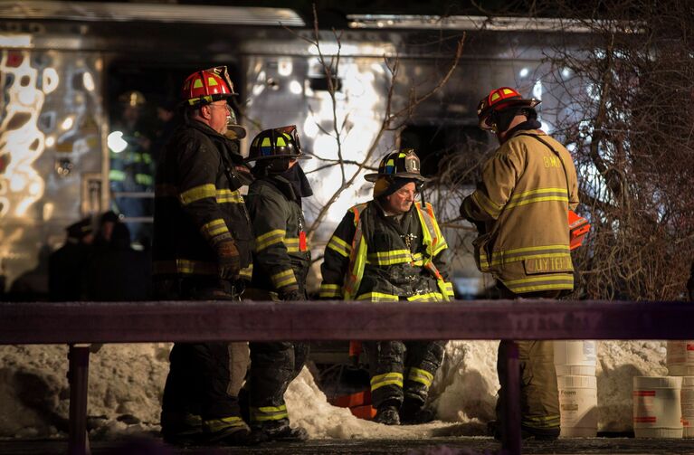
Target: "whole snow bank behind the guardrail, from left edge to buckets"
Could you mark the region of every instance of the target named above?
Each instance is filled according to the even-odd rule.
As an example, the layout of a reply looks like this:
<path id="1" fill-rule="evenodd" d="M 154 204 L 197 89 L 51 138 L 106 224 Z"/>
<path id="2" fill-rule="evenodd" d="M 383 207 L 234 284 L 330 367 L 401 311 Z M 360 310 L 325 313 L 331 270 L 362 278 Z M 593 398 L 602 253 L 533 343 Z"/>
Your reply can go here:
<path id="1" fill-rule="evenodd" d="M 89 415 L 93 436 L 157 431 L 170 344 L 107 345 L 90 355 Z M 427 438 L 480 435 L 494 418 L 498 342 L 451 341 L 434 378 L 439 422 L 388 427 L 332 406 L 309 370 L 286 394 L 290 419 L 311 438 Z M 599 431 L 632 428 L 632 377 L 664 375 L 665 343 L 598 343 Z M 35 438 L 67 431 L 66 346 L 0 346 L 0 437 Z"/>

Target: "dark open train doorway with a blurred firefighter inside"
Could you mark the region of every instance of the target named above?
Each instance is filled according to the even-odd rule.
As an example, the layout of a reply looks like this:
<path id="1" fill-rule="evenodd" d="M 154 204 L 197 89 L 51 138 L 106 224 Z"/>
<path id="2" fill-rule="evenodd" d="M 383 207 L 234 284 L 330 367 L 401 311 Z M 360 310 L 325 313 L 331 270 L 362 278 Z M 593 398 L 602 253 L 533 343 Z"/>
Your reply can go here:
<path id="1" fill-rule="evenodd" d="M 128 225 L 135 246 L 152 238 L 154 178 L 157 161 L 181 121 L 179 92 L 199 65 L 110 62 L 106 96 L 109 108 L 109 188 L 111 210 Z M 239 81 L 237 72 L 232 80 Z M 238 91 L 236 84 L 234 88 Z"/>

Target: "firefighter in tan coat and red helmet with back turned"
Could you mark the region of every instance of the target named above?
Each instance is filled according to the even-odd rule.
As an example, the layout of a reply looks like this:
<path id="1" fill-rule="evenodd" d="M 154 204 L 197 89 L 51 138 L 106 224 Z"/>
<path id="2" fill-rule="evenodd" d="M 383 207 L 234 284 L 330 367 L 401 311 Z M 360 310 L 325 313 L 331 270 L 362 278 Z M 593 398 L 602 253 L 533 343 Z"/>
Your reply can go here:
<path id="1" fill-rule="evenodd" d="M 475 259 L 497 280 L 502 299 L 555 299 L 574 288 L 569 253 L 568 211 L 578 204 L 571 155 L 537 121 L 538 100 L 502 87 L 480 100 L 480 128 L 499 139 L 499 149 L 483 166 L 482 181 L 466 197 L 461 215 L 480 230 Z M 500 438 L 507 398 L 506 353 L 499 345 L 495 436 Z M 524 436 L 555 439 L 559 403 L 551 341 L 518 341 L 522 374 L 521 430 Z"/>

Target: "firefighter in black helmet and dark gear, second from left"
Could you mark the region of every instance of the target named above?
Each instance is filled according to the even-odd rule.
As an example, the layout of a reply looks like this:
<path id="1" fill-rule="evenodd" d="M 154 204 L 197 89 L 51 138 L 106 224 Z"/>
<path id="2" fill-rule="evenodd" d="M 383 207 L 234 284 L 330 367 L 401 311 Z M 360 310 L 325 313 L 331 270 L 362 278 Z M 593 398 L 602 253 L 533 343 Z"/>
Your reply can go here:
<path id="1" fill-rule="evenodd" d="M 313 194 L 300 159 L 306 156 L 293 125 L 261 131 L 246 161 L 255 181 L 246 197 L 255 250 L 252 289 L 258 300 L 305 300 L 311 254 L 301 200 Z M 251 343 L 251 429 L 270 440 L 300 441 L 303 428 L 291 428 L 284 393 L 309 354 L 308 343 Z"/>

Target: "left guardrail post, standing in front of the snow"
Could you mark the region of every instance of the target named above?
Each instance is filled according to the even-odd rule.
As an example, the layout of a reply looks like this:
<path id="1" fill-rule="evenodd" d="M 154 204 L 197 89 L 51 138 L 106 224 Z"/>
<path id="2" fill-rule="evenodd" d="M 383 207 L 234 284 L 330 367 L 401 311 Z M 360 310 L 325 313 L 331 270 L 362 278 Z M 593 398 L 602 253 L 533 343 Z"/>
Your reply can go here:
<path id="1" fill-rule="evenodd" d="M 87 438 L 87 384 L 89 381 L 89 345 L 70 345 L 68 352 L 70 369 L 70 436 L 69 455 L 90 455 L 90 441 Z"/>

